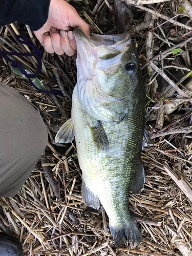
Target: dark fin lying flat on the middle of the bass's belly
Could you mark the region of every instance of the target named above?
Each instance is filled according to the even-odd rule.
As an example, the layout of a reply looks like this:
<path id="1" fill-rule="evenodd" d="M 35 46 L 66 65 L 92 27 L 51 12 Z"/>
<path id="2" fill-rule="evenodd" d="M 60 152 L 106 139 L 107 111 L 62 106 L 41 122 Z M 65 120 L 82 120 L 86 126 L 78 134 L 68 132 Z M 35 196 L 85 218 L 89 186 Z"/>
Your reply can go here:
<path id="1" fill-rule="evenodd" d="M 91 135 L 92 135 L 93 141 L 97 146 L 98 151 L 109 150 L 108 136 L 106 135 L 102 124 L 98 121 L 95 126 L 90 125 L 90 129 L 91 129 Z"/>

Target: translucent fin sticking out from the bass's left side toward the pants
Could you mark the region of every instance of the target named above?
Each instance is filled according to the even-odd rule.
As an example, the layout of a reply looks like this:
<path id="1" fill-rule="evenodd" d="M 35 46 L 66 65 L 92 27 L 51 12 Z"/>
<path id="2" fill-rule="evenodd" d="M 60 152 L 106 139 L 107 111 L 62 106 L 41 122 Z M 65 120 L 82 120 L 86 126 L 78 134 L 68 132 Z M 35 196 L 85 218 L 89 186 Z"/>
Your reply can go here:
<path id="1" fill-rule="evenodd" d="M 74 134 L 74 126 L 72 119 L 70 118 L 67 122 L 65 122 L 57 132 L 55 136 L 56 143 L 69 143 L 75 137 Z"/>

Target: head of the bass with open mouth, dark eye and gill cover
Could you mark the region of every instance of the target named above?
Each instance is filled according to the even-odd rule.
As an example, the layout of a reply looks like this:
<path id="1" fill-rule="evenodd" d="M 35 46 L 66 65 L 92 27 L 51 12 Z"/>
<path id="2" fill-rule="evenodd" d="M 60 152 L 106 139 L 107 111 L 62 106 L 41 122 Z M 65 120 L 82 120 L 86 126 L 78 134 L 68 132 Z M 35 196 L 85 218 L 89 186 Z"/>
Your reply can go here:
<path id="1" fill-rule="evenodd" d="M 81 106 L 100 121 L 122 120 L 133 110 L 138 88 L 144 89 L 131 34 L 91 34 L 74 29 L 77 43 L 77 87 Z"/>

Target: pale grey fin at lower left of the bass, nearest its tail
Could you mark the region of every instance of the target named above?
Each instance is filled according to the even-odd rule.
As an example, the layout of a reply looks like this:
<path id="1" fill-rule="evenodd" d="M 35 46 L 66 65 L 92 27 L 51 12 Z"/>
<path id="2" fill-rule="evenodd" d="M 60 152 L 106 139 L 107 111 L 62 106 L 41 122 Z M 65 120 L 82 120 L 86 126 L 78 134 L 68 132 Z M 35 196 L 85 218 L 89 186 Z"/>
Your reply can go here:
<path id="1" fill-rule="evenodd" d="M 86 206 L 98 209 L 100 207 L 100 200 L 98 196 L 94 195 L 88 186 L 82 181 L 82 200 Z"/>

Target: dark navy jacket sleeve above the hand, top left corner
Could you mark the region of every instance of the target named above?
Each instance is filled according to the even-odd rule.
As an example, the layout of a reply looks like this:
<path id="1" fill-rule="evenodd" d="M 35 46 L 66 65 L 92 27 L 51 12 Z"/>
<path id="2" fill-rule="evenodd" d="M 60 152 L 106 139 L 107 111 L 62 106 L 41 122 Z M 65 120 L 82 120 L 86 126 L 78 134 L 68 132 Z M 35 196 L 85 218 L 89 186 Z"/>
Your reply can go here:
<path id="1" fill-rule="evenodd" d="M 38 30 L 47 21 L 50 0 L 0 0 L 0 26 L 18 21 Z"/>

